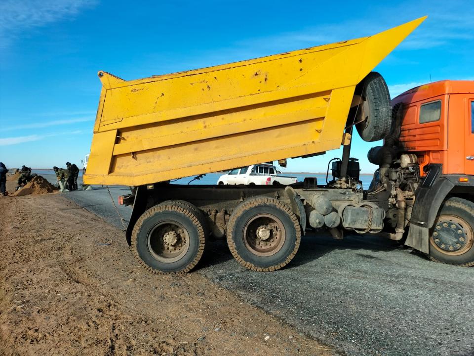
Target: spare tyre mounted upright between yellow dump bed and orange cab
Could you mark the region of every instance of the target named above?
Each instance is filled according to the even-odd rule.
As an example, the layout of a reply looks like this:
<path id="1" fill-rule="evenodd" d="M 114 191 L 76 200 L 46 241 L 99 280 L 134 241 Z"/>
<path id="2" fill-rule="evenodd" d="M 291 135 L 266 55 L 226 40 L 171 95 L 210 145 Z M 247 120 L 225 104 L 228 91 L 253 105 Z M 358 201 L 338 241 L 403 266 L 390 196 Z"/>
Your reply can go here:
<path id="1" fill-rule="evenodd" d="M 355 93 L 361 95 L 363 108 L 357 109 L 357 132 L 366 142 L 378 141 L 392 130 L 392 106 L 390 93 L 384 78 L 377 72 L 370 72 L 360 82 Z M 360 117 L 363 115 L 365 117 Z"/>

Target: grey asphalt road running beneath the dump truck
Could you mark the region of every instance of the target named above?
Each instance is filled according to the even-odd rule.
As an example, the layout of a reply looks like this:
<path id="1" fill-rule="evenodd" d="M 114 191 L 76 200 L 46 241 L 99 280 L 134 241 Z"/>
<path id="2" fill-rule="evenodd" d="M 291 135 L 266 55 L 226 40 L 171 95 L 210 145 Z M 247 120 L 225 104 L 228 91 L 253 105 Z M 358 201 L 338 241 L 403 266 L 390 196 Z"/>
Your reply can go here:
<path id="1" fill-rule="evenodd" d="M 127 191 L 111 188 L 116 202 Z M 121 228 L 105 187 L 64 196 Z M 259 273 L 241 267 L 223 240 L 213 244 L 198 273 L 341 354 L 474 356 L 474 268 L 437 264 L 373 235 L 305 236 L 289 266 Z"/>

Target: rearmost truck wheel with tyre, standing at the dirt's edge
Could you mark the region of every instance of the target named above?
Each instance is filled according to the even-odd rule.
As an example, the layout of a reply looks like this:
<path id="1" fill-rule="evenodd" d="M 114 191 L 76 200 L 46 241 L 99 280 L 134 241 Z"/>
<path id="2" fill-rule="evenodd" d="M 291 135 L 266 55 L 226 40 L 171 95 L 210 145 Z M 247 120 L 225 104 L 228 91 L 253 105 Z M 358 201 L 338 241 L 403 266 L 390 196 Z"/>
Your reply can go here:
<path id="1" fill-rule="evenodd" d="M 191 209 L 159 204 L 137 220 L 131 236 L 135 258 L 154 274 L 185 273 L 199 262 L 204 228 Z"/>

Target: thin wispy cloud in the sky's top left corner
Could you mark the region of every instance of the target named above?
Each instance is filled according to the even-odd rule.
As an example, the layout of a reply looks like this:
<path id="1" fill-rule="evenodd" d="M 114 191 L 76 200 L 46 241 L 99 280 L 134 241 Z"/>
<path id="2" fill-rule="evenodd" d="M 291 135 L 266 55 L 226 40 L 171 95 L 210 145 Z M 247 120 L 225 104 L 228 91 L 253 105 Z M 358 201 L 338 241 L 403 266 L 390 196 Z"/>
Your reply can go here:
<path id="1" fill-rule="evenodd" d="M 0 47 L 22 31 L 69 19 L 95 0 L 2 0 L 0 2 Z"/>

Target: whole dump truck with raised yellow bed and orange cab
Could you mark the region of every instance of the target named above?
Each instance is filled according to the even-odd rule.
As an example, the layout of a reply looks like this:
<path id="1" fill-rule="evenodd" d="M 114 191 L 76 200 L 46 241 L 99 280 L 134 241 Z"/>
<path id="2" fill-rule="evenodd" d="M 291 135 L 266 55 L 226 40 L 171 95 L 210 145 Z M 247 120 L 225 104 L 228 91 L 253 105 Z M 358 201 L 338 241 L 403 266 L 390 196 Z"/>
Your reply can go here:
<path id="1" fill-rule="evenodd" d="M 86 184 L 127 185 L 125 231 L 153 273 L 197 265 L 226 238 L 255 271 L 287 265 L 301 236 L 379 234 L 431 259 L 474 265 L 473 82 L 443 81 L 393 101 L 377 64 L 425 18 L 374 36 L 268 57 L 102 82 Z M 354 130 L 356 128 L 356 130 Z M 355 131 L 371 186 L 350 157 Z M 180 185 L 173 180 L 343 146 L 333 179 L 291 185 Z"/>

